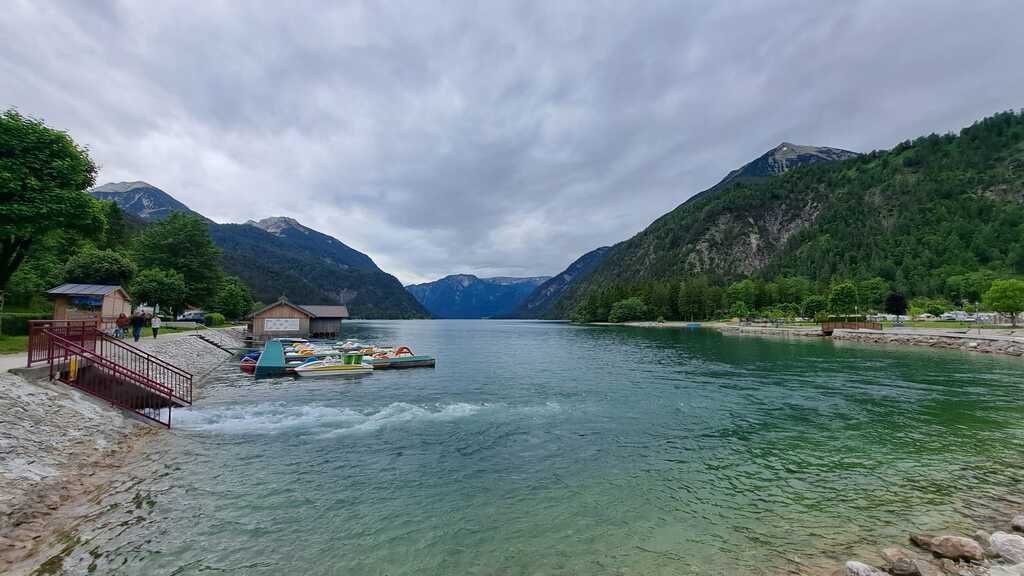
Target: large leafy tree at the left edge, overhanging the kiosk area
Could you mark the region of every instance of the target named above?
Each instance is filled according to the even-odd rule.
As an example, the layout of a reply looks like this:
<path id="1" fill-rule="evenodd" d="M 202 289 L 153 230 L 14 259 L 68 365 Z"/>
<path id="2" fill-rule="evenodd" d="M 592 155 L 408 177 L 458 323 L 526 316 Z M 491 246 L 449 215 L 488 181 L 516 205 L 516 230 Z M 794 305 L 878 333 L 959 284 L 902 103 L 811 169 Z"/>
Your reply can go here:
<path id="1" fill-rule="evenodd" d="M 102 234 L 102 210 L 85 193 L 95 175 L 66 132 L 14 110 L 0 114 L 0 289 L 48 232 Z"/>

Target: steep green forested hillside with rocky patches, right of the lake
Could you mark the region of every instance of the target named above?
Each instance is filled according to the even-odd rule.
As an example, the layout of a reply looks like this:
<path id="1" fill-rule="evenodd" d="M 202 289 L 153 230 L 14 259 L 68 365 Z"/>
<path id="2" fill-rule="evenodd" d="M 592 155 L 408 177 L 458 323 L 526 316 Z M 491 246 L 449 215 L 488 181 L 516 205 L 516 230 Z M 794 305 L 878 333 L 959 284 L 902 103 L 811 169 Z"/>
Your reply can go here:
<path id="1" fill-rule="evenodd" d="M 636 295 L 648 315 L 701 317 L 799 303 L 843 281 L 873 287 L 863 310 L 890 291 L 972 302 L 979 284 L 1021 273 L 1024 115 L 1007 112 L 693 198 L 614 246 L 553 311 L 600 317 Z M 729 290 L 744 279 L 750 290 Z M 780 282 L 802 288 L 780 295 Z M 680 310 L 687 283 L 707 287 L 700 314 Z"/>

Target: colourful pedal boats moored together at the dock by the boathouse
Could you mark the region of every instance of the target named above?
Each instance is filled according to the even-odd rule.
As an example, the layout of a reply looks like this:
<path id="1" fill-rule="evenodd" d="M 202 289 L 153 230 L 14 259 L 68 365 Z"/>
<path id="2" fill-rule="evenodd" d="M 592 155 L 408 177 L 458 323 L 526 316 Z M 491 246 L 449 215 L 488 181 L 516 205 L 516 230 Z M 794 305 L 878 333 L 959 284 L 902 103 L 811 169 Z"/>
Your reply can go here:
<path id="1" fill-rule="evenodd" d="M 261 351 L 243 355 L 240 369 L 254 376 L 343 376 L 396 368 L 433 368 L 432 356 L 409 346 L 377 346 L 356 340 L 313 342 L 304 338 L 268 340 Z"/>

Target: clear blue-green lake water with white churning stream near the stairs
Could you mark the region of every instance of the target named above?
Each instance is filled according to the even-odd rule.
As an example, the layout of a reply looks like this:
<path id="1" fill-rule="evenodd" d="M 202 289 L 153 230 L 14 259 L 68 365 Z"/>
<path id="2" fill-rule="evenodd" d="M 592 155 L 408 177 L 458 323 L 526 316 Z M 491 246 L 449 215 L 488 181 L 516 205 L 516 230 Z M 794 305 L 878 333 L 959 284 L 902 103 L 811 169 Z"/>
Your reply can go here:
<path id="1" fill-rule="evenodd" d="M 54 571 L 771 574 L 1024 504 L 1017 359 L 542 322 L 345 327 L 437 368 L 253 382 L 225 366 Z"/>

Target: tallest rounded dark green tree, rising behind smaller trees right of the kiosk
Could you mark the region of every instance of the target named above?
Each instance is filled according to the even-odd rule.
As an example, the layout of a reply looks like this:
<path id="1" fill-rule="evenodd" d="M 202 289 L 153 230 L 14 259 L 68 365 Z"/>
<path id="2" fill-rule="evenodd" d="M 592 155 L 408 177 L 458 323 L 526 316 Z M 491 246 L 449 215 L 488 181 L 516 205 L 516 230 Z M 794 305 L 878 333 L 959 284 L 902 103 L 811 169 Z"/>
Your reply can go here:
<path id="1" fill-rule="evenodd" d="M 206 305 L 220 286 L 220 251 L 199 216 L 174 212 L 146 227 L 135 243 L 139 268 L 173 270 L 185 281 L 183 303 Z"/>

